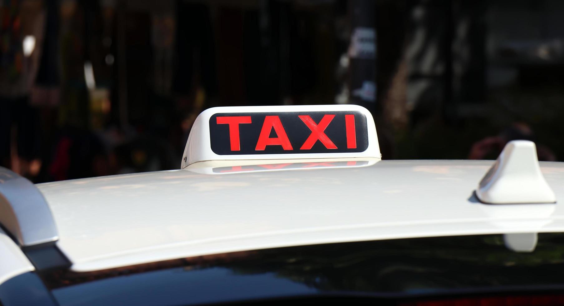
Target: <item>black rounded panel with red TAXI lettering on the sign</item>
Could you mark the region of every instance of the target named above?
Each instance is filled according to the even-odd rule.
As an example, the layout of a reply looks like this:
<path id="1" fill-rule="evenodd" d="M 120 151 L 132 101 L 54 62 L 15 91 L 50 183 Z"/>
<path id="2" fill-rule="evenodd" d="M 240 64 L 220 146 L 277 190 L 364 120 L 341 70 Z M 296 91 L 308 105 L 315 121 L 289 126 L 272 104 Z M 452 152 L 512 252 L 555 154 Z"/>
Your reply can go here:
<path id="1" fill-rule="evenodd" d="M 218 155 L 363 152 L 366 116 L 359 111 L 216 113 L 211 150 Z"/>

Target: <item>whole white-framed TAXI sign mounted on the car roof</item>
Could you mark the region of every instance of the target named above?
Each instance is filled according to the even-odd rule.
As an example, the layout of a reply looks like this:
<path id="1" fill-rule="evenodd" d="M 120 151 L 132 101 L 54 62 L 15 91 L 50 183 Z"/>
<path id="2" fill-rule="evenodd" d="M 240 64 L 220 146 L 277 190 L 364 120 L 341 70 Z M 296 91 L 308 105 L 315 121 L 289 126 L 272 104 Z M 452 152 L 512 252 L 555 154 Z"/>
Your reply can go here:
<path id="1" fill-rule="evenodd" d="M 196 118 L 181 168 L 207 160 L 381 158 L 371 113 L 356 105 L 213 107 Z"/>

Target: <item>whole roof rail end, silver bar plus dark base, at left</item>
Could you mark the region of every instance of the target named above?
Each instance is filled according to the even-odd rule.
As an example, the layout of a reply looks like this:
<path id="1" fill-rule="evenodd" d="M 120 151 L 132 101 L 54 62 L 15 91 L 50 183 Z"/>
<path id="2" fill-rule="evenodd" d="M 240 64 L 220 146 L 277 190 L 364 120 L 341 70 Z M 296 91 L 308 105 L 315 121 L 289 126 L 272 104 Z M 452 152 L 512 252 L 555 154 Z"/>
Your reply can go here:
<path id="1" fill-rule="evenodd" d="M 0 167 L 0 225 L 36 269 L 68 264 L 68 259 L 55 246 L 59 233 L 41 191 L 25 177 L 3 167 Z"/>

